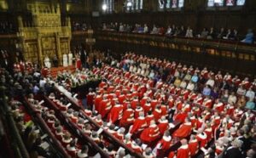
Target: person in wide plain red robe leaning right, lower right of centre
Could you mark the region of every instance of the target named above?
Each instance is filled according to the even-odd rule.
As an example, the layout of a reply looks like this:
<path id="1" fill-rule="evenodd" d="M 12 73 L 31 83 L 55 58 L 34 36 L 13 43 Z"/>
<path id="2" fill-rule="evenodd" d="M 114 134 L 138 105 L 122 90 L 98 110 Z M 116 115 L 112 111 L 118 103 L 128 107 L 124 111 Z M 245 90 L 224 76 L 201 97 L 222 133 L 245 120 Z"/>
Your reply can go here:
<path id="1" fill-rule="evenodd" d="M 188 118 L 185 119 L 185 122 L 173 133 L 173 137 L 177 138 L 187 138 L 192 132 L 192 123 Z"/>

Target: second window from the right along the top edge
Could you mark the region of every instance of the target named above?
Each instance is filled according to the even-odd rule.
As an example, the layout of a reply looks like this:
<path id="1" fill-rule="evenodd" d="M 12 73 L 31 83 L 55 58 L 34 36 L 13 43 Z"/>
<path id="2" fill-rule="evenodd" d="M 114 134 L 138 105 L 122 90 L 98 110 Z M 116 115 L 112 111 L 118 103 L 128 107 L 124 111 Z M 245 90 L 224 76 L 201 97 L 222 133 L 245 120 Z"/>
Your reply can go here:
<path id="1" fill-rule="evenodd" d="M 159 0 L 159 8 L 183 8 L 184 0 Z"/>

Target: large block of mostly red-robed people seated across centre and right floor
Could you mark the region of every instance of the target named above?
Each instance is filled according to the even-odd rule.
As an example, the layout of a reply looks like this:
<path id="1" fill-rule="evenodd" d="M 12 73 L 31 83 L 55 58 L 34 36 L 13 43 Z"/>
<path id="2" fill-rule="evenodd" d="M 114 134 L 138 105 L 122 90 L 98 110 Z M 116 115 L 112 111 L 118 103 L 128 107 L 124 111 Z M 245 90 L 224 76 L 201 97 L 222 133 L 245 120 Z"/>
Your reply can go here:
<path id="1" fill-rule="evenodd" d="M 151 143 L 159 140 L 160 134 L 169 140 L 166 149 L 173 141 L 176 142 L 175 138 L 181 139 L 186 146 L 188 140 L 183 138 L 190 137 L 191 143 L 195 139 L 199 142 L 197 150 L 202 150 L 205 155 L 223 154 L 222 151 L 230 145 L 242 148 L 241 155 L 246 155 L 245 151 L 254 152 L 249 149 L 250 139 L 255 139 L 255 115 L 251 110 L 255 108 L 253 89 L 256 81 L 249 82 L 247 78 L 241 81 L 238 76 L 232 78 L 228 73 L 225 76 L 221 72 L 214 75 L 207 68 L 200 71 L 190 66 L 188 69 L 186 65 L 135 54 L 126 54 L 125 59 L 118 63 L 113 60 L 111 65 L 93 70 L 95 75 L 107 80 L 99 85 L 96 93 L 90 91 L 86 105 L 96 110 L 108 124 L 114 124 L 117 129 L 125 127 L 125 137 L 129 140 L 126 143 L 133 138 L 133 150 L 143 143 L 151 147 L 146 148 L 147 151 L 157 155 L 158 145 Z M 141 67 L 148 67 L 148 72 Z M 171 74 L 163 73 L 166 68 Z M 86 111 L 90 116 L 90 110 Z M 99 124 L 104 126 L 99 120 Z M 173 121 L 182 125 L 172 133 L 171 140 L 168 130 L 175 127 Z M 143 149 L 137 151 L 143 153 Z M 228 151 L 226 149 L 224 154 Z M 169 156 L 172 155 L 173 152 Z"/>

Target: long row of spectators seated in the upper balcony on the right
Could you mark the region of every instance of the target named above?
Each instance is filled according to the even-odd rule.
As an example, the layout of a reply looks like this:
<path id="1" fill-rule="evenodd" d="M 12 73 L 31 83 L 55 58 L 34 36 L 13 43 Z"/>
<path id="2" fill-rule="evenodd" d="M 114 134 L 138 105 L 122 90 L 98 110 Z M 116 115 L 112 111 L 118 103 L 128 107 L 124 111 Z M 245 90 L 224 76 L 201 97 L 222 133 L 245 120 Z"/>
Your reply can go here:
<path id="1" fill-rule="evenodd" d="M 191 27 L 185 28 L 183 25 L 168 25 L 167 28 L 163 26 L 153 25 L 152 29 L 149 29 L 147 24 L 140 25 L 135 24 L 134 26 L 123 23 L 110 23 L 102 24 L 102 31 L 119 31 L 119 32 L 132 32 L 132 33 L 142 33 L 142 34 L 152 34 L 152 35 L 165 35 L 166 37 L 197 37 L 202 39 L 224 39 L 231 41 L 241 41 L 245 43 L 253 43 L 254 35 L 253 30 L 249 29 L 247 31 L 246 37 L 241 37 L 236 29 L 224 29 L 224 27 L 219 30 L 211 27 L 210 29 L 203 28 L 201 32 L 195 32 Z"/>

